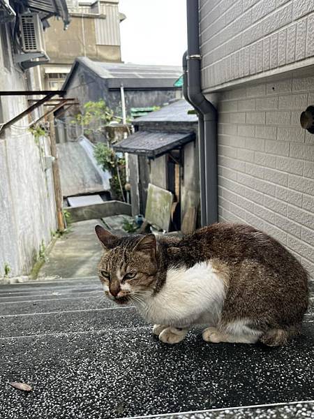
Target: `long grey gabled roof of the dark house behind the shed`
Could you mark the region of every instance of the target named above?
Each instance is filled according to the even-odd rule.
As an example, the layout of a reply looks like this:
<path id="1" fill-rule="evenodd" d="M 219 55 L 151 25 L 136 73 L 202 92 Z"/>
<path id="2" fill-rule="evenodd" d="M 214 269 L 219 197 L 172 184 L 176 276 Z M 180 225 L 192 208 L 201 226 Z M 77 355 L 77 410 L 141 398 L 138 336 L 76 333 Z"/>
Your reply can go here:
<path id="1" fill-rule="evenodd" d="M 98 75 L 99 78 L 108 80 L 110 89 L 118 89 L 121 82 L 126 89 L 138 88 L 173 88 L 174 82 L 180 77 L 182 69 L 179 66 L 152 66 L 145 64 L 125 64 L 92 61 L 87 57 L 79 57 L 71 68 L 62 89 L 66 89 L 68 81 L 77 66 L 84 66 Z"/>

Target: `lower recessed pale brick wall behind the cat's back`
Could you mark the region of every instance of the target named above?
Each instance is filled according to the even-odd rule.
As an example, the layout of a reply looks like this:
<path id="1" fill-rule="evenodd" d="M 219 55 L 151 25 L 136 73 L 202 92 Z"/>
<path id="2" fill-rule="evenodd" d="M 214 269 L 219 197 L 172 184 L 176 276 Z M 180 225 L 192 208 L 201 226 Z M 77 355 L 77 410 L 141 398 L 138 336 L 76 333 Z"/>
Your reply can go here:
<path id="1" fill-rule="evenodd" d="M 314 77 L 219 96 L 220 221 L 264 230 L 313 273 L 314 135 L 301 128 L 299 117 L 314 105 Z"/>

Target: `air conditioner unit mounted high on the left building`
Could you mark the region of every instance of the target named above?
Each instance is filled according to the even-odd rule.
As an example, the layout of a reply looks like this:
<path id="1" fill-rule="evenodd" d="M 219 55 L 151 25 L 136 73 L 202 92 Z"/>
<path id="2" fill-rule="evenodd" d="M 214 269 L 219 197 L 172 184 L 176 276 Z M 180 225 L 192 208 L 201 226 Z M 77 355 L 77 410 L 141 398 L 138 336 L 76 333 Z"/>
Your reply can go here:
<path id="1" fill-rule="evenodd" d="M 25 53 L 37 52 L 45 55 L 43 25 L 38 13 L 20 15 L 22 50 Z"/>

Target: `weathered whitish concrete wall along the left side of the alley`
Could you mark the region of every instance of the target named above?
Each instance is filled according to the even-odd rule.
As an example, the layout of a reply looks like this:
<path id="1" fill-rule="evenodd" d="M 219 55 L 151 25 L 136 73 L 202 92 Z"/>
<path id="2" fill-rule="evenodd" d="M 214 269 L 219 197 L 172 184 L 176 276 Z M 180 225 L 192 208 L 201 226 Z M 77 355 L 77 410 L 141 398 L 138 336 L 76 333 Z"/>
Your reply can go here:
<path id="1" fill-rule="evenodd" d="M 3 54 L 10 56 L 0 47 L 0 90 L 24 90 L 25 74 L 15 70 L 11 57 L 10 71 L 3 68 Z M 31 71 L 31 81 L 34 75 Z M 27 105 L 25 96 L 2 96 L 3 122 Z M 29 273 L 40 244 L 47 246 L 51 231 L 57 228 L 52 170 L 45 170 L 43 159 L 50 154 L 48 141 L 41 138 L 36 143 L 27 128 L 29 122 L 24 117 L 0 138 L 0 277 L 5 264 L 10 275 Z"/>

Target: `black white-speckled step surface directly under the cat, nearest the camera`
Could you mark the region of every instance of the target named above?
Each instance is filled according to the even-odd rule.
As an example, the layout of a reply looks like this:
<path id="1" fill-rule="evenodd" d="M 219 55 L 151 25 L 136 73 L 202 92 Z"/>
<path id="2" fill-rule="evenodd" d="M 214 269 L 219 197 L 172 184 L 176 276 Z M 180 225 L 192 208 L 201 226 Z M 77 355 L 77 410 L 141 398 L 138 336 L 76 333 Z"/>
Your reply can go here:
<path id="1" fill-rule="evenodd" d="M 148 328 L 0 339 L 1 419 L 124 418 L 313 399 L 313 330 L 289 346 L 167 346 Z M 5 385 L 24 381 L 29 397 Z M 83 415 L 83 416 L 82 416 Z"/>

